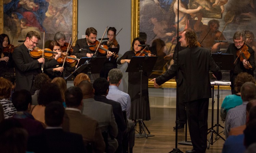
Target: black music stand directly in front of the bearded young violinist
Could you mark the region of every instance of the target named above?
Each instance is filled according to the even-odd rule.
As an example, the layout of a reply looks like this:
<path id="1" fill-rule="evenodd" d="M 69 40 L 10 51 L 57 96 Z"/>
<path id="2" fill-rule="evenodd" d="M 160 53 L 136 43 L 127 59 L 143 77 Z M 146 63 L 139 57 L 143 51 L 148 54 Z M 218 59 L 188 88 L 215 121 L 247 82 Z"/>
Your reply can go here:
<path id="1" fill-rule="evenodd" d="M 91 74 L 100 73 L 106 57 L 82 57 L 77 66 L 82 65 L 84 62 L 89 61 L 89 66 L 83 69 L 80 73 L 85 73 L 91 79 Z"/>

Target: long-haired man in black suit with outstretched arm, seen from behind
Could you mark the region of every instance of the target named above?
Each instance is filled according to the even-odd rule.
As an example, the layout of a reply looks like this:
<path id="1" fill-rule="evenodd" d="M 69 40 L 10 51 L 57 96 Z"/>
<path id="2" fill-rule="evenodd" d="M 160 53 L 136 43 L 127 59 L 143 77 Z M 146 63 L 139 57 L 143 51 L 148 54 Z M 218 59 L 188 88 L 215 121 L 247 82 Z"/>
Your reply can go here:
<path id="1" fill-rule="evenodd" d="M 222 79 L 222 73 L 214 62 L 209 49 L 197 45 L 197 36 L 193 30 L 185 30 L 181 34 L 181 47 L 186 49 L 179 52 L 178 65 L 175 62 L 163 75 L 151 80 L 158 88 L 162 80 L 172 78 L 179 69 L 183 75 L 185 89 L 185 105 L 188 128 L 193 149 L 188 153 L 204 153 L 207 148 L 208 106 L 211 98 L 211 84 L 209 70 L 217 80 Z"/>

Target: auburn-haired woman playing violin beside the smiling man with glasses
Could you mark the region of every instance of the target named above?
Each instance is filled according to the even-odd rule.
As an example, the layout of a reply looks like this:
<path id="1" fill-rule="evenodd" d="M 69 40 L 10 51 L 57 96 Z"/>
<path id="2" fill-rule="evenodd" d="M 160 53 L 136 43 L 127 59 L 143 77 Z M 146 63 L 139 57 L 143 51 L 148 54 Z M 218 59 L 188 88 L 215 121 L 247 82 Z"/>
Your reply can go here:
<path id="1" fill-rule="evenodd" d="M 48 48 L 51 49 L 53 52 L 62 52 L 60 49 L 60 44 L 57 43 L 57 41 L 52 41 L 49 44 Z M 51 59 L 53 59 L 55 56 L 56 56 L 56 54 L 53 54 Z M 61 58 L 61 57 L 59 57 L 59 58 Z M 51 79 L 53 79 L 55 77 L 60 77 L 61 75 L 63 77 L 68 77 L 71 74 L 71 72 L 73 72 L 75 70 L 75 68 L 76 67 L 71 67 L 71 65 L 69 63 L 65 63 L 64 67 L 62 67 L 61 63 L 59 63 L 58 65 L 56 65 L 52 68 L 46 69 L 45 73 L 47 75 L 49 75 L 49 77 Z"/>

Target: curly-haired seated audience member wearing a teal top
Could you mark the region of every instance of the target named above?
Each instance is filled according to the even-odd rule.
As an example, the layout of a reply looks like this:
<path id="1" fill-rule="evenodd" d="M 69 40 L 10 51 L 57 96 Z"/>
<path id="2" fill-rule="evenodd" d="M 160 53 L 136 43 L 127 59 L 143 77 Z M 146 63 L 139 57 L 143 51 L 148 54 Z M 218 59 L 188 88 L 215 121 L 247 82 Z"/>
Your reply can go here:
<path id="1" fill-rule="evenodd" d="M 243 103 L 243 101 L 241 99 L 240 90 L 241 90 L 241 86 L 245 82 L 252 82 L 255 84 L 255 79 L 251 74 L 249 74 L 247 72 L 239 73 L 234 81 L 234 89 L 236 90 L 237 94 L 226 96 L 221 105 L 221 120 L 222 121 L 225 121 L 226 115 L 227 115 L 227 112 L 229 111 L 229 109 L 234 108 Z"/>

